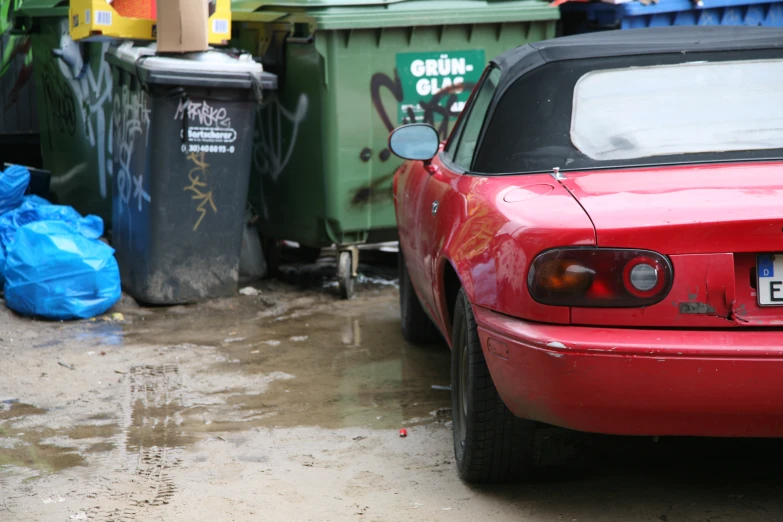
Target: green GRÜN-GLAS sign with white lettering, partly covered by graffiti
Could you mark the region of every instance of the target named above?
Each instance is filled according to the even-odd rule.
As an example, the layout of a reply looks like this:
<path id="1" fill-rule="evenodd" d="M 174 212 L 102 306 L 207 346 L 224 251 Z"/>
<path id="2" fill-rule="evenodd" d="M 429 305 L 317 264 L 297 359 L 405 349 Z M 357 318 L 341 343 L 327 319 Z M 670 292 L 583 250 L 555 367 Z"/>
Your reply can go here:
<path id="1" fill-rule="evenodd" d="M 437 128 L 445 119 L 448 126 L 468 101 L 485 63 L 483 50 L 397 54 L 402 86 L 398 121 Z"/>

